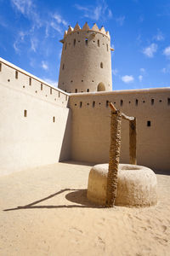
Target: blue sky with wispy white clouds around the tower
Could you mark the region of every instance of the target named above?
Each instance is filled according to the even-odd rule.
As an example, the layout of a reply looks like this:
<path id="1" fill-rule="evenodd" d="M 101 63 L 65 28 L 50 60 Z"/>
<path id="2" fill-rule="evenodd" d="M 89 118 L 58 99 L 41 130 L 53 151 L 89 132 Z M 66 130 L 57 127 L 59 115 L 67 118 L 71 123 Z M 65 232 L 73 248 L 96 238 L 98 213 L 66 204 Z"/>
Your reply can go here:
<path id="1" fill-rule="evenodd" d="M 56 86 L 77 21 L 109 30 L 113 90 L 170 86 L 169 0 L 0 0 L 0 56 Z"/>

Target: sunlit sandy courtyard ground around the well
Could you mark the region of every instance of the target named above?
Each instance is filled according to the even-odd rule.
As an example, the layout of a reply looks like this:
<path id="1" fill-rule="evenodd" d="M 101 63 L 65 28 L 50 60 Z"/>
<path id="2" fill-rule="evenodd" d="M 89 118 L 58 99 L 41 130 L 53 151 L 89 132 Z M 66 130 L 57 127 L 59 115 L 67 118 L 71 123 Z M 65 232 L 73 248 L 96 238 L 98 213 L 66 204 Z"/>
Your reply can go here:
<path id="1" fill-rule="evenodd" d="M 156 207 L 107 209 L 86 199 L 89 170 L 58 163 L 0 177 L 0 255 L 170 255 L 170 176 L 157 175 Z"/>

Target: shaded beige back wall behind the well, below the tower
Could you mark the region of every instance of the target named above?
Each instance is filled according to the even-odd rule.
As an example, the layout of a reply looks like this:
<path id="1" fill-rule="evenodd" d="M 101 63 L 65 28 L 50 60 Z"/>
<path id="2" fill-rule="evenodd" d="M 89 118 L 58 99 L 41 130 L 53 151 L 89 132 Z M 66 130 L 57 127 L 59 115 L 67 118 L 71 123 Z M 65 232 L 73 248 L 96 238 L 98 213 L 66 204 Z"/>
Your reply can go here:
<path id="1" fill-rule="evenodd" d="M 137 118 L 138 164 L 169 170 L 170 88 L 71 95 L 71 159 L 94 163 L 109 160 L 111 118 L 106 101 Z M 147 126 L 147 121 L 150 121 L 150 126 Z M 122 121 L 121 162 L 129 162 L 128 123 L 125 120 Z"/>

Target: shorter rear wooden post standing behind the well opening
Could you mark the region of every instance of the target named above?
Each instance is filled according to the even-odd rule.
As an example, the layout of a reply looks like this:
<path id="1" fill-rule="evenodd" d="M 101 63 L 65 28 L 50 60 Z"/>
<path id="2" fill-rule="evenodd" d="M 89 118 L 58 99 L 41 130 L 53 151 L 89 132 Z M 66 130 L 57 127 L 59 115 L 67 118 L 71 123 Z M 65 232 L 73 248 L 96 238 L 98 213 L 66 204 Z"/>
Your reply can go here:
<path id="1" fill-rule="evenodd" d="M 129 163 L 136 165 L 136 118 L 129 121 Z"/>

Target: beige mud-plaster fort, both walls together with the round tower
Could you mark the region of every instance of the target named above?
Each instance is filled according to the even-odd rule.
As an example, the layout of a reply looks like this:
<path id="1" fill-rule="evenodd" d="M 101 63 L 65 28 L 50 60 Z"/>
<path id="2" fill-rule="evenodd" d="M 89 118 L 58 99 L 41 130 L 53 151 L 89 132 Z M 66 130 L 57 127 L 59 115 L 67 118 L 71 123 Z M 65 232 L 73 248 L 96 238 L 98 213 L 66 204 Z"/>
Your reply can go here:
<path id="1" fill-rule="evenodd" d="M 0 58 L 0 175 L 63 160 L 109 158 L 108 103 L 137 119 L 138 164 L 170 166 L 170 88 L 111 90 L 111 38 L 102 26 L 69 27 L 59 86 Z M 128 125 L 122 122 L 121 162 L 128 163 Z"/>

